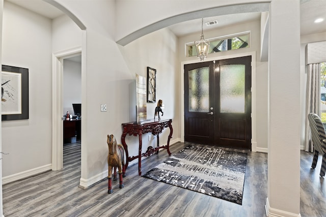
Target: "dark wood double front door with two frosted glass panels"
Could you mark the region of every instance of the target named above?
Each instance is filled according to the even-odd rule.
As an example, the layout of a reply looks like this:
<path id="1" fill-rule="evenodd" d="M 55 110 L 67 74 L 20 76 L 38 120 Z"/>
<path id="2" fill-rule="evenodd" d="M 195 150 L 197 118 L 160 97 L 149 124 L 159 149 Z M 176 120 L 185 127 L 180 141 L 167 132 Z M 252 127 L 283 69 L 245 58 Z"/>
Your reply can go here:
<path id="1" fill-rule="evenodd" d="M 251 56 L 184 66 L 184 139 L 251 149 Z"/>

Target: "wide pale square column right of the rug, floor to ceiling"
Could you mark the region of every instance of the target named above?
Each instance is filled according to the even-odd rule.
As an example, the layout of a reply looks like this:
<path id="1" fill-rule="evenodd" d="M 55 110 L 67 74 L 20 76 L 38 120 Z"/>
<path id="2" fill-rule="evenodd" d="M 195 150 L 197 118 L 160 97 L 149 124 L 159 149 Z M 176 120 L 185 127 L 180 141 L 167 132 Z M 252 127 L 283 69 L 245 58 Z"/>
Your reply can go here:
<path id="1" fill-rule="evenodd" d="M 268 50 L 266 208 L 268 216 L 301 216 L 300 1 L 271 1 Z"/>

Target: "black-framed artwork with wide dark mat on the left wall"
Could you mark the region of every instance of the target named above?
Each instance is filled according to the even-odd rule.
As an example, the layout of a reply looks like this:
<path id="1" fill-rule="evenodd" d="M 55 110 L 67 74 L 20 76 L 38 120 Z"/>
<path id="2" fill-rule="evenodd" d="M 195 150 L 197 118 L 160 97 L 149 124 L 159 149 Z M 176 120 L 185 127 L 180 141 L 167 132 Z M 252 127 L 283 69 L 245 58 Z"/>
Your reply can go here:
<path id="1" fill-rule="evenodd" d="M 2 65 L 2 120 L 29 119 L 29 69 Z"/>

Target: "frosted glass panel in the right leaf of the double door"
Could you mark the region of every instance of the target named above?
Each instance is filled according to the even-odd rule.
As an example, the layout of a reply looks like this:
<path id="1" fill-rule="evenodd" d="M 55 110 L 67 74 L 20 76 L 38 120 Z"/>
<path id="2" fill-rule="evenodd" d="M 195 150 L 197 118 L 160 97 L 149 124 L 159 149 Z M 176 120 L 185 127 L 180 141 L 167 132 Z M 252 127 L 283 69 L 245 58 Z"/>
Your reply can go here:
<path id="1" fill-rule="evenodd" d="M 221 113 L 244 113 L 244 65 L 221 65 Z"/>

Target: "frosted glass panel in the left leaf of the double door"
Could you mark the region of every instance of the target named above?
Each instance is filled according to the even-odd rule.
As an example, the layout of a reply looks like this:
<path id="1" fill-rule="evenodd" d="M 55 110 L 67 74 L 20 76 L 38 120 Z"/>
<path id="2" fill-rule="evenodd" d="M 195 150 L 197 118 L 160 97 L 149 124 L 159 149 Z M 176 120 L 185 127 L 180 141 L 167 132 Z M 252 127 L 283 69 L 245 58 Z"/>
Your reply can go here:
<path id="1" fill-rule="evenodd" d="M 188 71 L 189 111 L 208 112 L 209 67 Z"/>

